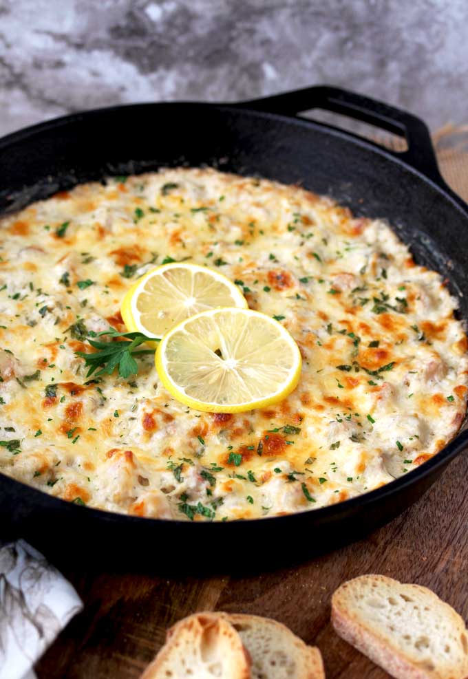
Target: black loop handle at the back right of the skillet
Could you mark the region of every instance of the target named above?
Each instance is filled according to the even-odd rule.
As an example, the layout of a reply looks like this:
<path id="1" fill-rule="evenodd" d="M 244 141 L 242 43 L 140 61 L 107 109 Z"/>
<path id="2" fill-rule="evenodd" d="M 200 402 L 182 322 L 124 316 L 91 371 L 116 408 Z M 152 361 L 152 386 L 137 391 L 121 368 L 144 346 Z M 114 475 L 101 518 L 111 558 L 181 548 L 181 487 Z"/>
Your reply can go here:
<path id="1" fill-rule="evenodd" d="M 297 89 L 263 99 L 244 101 L 240 103 L 240 106 L 286 116 L 295 116 L 312 109 L 324 109 L 368 122 L 370 125 L 375 125 L 404 137 L 407 141 L 407 151 L 397 153 L 396 151 L 385 150 L 411 165 L 439 186 L 446 188 L 438 169 L 436 154 L 425 123 L 416 116 L 381 101 L 338 87 L 317 85 L 316 87 Z M 379 144 L 374 145 L 378 146 Z"/>

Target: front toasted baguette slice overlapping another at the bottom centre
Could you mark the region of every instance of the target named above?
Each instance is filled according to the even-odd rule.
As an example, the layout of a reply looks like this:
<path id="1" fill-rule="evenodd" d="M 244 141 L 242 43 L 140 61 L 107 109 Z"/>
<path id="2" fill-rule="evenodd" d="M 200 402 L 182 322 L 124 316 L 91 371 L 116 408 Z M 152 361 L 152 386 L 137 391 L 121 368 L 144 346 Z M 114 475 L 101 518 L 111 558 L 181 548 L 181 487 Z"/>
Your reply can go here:
<path id="1" fill-rule="evenodd" d="M 176 623 L 140 679 L 250 679 L 239 634 L 222 616 L 198 613 Z"/>

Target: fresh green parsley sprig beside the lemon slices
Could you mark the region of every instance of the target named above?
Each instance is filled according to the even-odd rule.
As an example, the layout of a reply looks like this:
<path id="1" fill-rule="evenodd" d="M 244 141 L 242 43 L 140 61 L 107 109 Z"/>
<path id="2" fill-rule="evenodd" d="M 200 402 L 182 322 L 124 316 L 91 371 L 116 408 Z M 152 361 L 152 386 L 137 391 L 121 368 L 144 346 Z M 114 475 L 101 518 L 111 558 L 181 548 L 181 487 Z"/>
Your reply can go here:
<path id="1" fill-rule="evenodd" d="M 100 342 L 97 340 L 88 339 L 89 344 L 98 349 L 97 352 L 86 354 L 85 352 L 75 352 L 76 356 L 81 356 L 85 359 L 85 365 L 89 367 L 87 377 L 91 376 L 94 371 L 96 377 L 100 375 L 111 375 L 118 366 L 118 374 L 127 378 L 138 373 L 138 363 L 134 356 L 142 356 L 143 354 L 153 354 L 154 349 L 138 349 L 143 342 L 151 341 L 158 342 L 154 337 L 147 337 L 141 332 L 117 332 L 116 330 L 105 330 L 99 332 L 101 335 L 108 335 L 111 338 L 125 337 L 128 339 Z"/>

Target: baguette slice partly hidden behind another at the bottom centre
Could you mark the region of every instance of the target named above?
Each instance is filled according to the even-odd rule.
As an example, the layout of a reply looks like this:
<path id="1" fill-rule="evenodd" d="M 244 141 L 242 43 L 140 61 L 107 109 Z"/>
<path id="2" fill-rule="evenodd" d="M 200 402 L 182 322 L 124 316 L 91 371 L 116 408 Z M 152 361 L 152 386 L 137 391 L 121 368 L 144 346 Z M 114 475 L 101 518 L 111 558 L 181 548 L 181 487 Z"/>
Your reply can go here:
<path id="1" fill-rule="evenodd" d="M 270 618 L 224 614 L 251 656 L 252 679 L 325 679 L 318 648 Z"/>

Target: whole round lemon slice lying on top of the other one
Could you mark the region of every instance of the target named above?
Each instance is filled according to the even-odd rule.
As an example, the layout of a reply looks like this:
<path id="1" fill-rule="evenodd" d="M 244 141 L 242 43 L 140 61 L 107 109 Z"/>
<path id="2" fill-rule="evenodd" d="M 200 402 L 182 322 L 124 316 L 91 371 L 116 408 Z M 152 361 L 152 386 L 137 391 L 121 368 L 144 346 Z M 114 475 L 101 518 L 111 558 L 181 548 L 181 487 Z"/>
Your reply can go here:
<path id="1" fill-rule="evenodd" d="M 283 400 L 299 381 L 301 354 L 285 327 L 251 309 L 213 309 L 169 330 L 156 351 L 167 391 L 212 413 Z"/>

